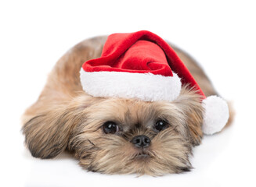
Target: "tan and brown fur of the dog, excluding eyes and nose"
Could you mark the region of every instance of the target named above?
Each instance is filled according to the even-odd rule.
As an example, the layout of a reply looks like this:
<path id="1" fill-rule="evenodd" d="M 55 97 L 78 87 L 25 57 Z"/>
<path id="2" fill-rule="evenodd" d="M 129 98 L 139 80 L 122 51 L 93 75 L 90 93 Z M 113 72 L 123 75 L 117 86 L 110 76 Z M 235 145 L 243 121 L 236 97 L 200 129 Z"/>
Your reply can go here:
<path id="1" fill-rule="evenodd" d="M 164 175 L 189 171 L 193 146 L 200 144 L 204 109 L 200 95 L 188 86 L 172 102 L 91 97 L 79 79 L 81 65 L 99 58 L 106 37 L 96 37 L 70 49 L 59 59 L 38 101 L 23 115 L 25 143 L 34 157 L 52 158 L 64 150 L 74 153 L 83 168 L 106 174 Z M 209 79 L 189 55 L 175 48 L 206 96 L 216 95 Z M 154 123 L 164 119 L 161 132 Z M 116 122 L 120 132 L 105 134 L 103 124 Z M 229 120 L 230 121 L 230 120 Z M 150 137 L 138 149 L 134 136 Z"/>

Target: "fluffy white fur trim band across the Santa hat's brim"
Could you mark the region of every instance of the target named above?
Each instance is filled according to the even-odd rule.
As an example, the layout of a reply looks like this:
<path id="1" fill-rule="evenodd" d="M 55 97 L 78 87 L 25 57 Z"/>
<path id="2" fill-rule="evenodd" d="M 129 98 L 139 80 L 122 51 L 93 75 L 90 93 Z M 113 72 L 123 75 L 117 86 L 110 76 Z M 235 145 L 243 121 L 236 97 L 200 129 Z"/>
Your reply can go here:
<path id="1" fill-rule="evenodd" d="M 132 72 L 80 71 L 81 85 L 93 97 L 136 98 L 142 101 L 174 101 L 180 94 L 182 83 L 173 76 Z"/>

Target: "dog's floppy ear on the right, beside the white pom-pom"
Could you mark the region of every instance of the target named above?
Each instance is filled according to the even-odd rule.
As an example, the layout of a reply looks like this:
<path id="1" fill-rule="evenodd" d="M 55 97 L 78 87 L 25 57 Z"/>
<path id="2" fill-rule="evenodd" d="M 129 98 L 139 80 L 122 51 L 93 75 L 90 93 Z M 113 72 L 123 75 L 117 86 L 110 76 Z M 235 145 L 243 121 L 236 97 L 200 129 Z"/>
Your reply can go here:
<path id="1" fill-rule="evenodd" d="M 204 121 L 204 108 L 201 104 L 201 96 L 196 90 L 182 87 L 177 101 L 178 107 L 186 115 L 186 126 L 188 128 L 189 140 L 193 146 L 200 144 L 203 137 L 202 124 Z"/>

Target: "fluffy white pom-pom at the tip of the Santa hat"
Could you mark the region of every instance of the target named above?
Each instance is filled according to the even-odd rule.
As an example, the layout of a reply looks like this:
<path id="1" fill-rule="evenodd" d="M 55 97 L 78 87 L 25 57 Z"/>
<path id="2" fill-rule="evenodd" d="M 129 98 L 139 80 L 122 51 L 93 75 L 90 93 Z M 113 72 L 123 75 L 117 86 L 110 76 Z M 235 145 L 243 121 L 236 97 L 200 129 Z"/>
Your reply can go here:
<path id="1" fill-rule="evenodd" d="M 204 123 L 203 132 L 212 135 L 223 129 L 229 119 L 229 107 L 221 97 L 210 96 L 204 99 Z"/>

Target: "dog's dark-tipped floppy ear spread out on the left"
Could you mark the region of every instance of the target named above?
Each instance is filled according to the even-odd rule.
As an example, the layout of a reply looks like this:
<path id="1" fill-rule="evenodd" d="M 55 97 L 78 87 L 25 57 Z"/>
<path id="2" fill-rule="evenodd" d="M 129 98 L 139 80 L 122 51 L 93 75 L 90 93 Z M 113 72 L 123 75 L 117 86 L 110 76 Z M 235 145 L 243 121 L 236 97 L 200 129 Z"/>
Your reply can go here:
<path id="1" fill-rule="evenodd" d="M 34 116 L 23 125 L 25 143 L 33 157 L 52 158 L 67 148 L 70 133 L 85 120 L 84 103 L 70 101 Z"/>

